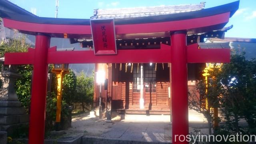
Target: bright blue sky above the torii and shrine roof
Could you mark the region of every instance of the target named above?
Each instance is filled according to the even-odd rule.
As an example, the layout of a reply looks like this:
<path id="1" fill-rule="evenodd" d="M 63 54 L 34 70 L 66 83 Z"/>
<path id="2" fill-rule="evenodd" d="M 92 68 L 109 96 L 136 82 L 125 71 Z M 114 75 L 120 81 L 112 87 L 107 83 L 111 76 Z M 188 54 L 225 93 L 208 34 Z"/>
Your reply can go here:
<path id="1" fill-rule="evenodd" d="M 210 8 L 236 0 L 59 0 L 58 18 L 90 18 L 93 9 L 131 8 L 179 4 L 199 4 L 205 1 Z M 55 0 L 10 0 L 10 2 L 41 17 L 55 17 Z M 240 0 L 238 11 L 226 26 L 234 27 L 226 37 L 256 38 L 256 0 Z"/>

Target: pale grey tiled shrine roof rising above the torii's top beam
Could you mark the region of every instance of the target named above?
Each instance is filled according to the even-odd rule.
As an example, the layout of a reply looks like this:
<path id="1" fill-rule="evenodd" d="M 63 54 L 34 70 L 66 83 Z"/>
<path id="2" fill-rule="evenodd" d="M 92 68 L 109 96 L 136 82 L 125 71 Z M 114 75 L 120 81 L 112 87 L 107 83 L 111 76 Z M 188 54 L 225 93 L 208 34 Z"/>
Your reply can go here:
<path id="1" fill-rule="evenodd" d="M 136 18 L 144 16 L 158 16 L 164 14 L 176 14 L 204 9 L 205 2 L 200 4 L 184 4 L 174 6 L 153 6 L 136 8 L 96 9 L 92 19 L 102 18 Z"/>

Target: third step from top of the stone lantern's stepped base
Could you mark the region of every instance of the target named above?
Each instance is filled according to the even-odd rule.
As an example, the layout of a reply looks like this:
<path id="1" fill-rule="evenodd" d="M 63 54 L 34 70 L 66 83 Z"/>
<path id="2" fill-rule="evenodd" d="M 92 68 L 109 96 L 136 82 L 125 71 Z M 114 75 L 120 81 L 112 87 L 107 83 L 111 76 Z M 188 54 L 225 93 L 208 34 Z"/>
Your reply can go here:
<path id="1" fill-rule="evenodd" d="M 28 114 L 13 115 L 13 116 L 0 116 L 0 125 L 18 124 L 29 121 Z"/>

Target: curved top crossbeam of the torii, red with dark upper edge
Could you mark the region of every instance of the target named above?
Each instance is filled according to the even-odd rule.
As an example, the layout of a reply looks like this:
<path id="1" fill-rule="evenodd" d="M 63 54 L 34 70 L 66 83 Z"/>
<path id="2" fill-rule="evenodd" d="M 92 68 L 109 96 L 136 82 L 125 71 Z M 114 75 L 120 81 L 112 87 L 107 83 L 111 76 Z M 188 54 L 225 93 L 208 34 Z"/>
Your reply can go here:
<path id="1" fill-rule="evenodd" d="M 116 35 L 186 30 L 187 34 L 223 28 L 238 9 L 239 1 L 177 14 L 115 19 Z M 90 19 L 43 18 L 1 12 L 4 26 L 25 34 L 48 33 L 51 37 L 91 38 Z"/>

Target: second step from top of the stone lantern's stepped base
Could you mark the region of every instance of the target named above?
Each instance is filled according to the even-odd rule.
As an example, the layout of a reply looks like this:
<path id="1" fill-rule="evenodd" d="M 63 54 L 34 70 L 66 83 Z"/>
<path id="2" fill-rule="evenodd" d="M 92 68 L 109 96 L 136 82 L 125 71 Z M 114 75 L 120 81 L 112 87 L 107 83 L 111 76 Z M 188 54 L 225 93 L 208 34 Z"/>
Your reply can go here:
<path id="1" fill-rule="evenodd" d="M 25 114 L 25 108 L 14 107 L 14 108 L 0 108 L 0 115 L 10 116 L 10 115 L 20 115 Z"/>

